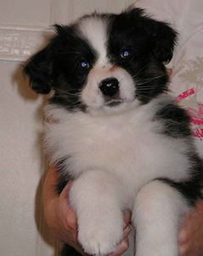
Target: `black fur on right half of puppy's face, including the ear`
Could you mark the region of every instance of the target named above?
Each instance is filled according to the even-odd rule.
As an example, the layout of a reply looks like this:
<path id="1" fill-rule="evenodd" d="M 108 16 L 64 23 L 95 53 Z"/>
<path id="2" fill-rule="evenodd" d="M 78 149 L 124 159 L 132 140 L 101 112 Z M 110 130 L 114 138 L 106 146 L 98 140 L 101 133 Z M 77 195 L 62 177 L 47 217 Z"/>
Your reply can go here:
<path id="1" fill-rule="evenodd" d="M 167 90 L 163 62 L 171 60 L 176 38 L 171 27 L 151 20 L 142 9 L 124 12 L 112 20 L 107 44 L 110 61 L 131 74 L 140 102 L 147 103 Z M 127 60 L 121 58 L 123 49 L 130 52 Z"/>

